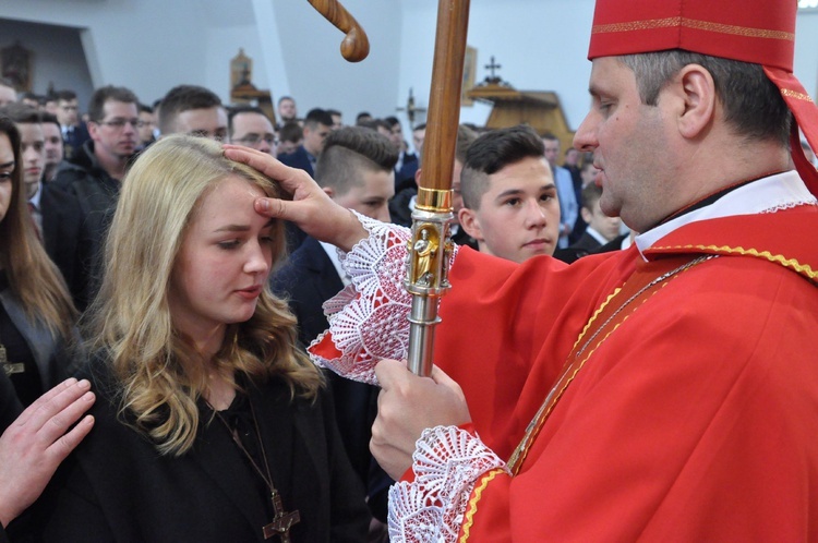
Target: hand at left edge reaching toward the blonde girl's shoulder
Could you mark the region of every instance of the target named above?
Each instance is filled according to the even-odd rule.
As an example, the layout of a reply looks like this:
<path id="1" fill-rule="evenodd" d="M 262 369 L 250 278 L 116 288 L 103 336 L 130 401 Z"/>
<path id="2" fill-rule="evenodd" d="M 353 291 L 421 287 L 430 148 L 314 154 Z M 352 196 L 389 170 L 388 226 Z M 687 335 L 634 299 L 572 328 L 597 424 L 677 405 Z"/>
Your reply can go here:
<path id="1" fill-rule="evenodd" d="M 28 406 L 0 436 L 0 522 L 14 520 L 45 490 L 57 468 L 88 435 L 91 384 L 70 378 Z M 69 432 L 69 429 L 71 431 Z"/>

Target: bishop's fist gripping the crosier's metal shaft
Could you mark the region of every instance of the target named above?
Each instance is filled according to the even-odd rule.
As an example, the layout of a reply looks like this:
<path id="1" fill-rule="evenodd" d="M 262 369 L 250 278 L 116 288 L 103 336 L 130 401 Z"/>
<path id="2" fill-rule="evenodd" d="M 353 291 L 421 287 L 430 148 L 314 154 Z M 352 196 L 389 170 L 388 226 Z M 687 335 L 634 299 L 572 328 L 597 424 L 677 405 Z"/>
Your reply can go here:
<path id="1" fill-rule="evenodd" d="M 412 464 L 414 444 L 425 429 L 471 421 L 460 385 L 437 366 L 430 377 L 412 374 L 404 363 L 382 360 L 375 366 L 381 384 L 377 418 L 370 449 L 395 480 Z"/>

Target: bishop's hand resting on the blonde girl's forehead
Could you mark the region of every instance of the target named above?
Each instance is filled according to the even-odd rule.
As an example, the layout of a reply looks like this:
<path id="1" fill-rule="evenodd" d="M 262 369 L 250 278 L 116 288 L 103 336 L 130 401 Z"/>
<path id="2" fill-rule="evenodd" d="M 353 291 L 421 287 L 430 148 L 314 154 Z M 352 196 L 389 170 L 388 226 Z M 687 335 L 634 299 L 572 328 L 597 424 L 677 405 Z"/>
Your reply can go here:
<path id="1" fill-rule="evenodd" d="M 290 220 L 313 238 L 349 251 L 363 238 L 366 230 L 352 213 L 333 202 L 309 173 L 282 165 L 268 153 L 239 145 L 225 145 L 225 156 L 246 164 L 292 195 L 292 201 L 258 198 L 255 210 L 277 219 Z"/>

